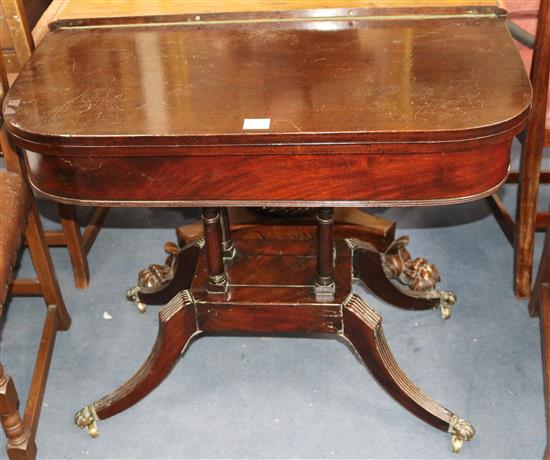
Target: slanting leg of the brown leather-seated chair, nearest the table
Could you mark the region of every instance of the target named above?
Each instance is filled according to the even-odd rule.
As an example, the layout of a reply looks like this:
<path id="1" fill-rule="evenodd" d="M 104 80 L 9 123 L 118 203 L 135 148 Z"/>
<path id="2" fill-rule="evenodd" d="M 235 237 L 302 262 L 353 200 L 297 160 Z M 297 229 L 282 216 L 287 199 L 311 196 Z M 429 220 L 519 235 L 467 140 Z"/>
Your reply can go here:
<path id="1" fill-rule="evenodd" d="M 71 325 L 71 317 L 65 307 L 61 289 L 55 276 L 46 237 L 44 236 L 44 230 L 34 201 L 32 202 L 29 220 L 25 229 L 25 238 L 29 245 L 36 276 L 42 288 L 44 301 L 46 305 L 56 306 L 58 329 L 67 330 Z"/>

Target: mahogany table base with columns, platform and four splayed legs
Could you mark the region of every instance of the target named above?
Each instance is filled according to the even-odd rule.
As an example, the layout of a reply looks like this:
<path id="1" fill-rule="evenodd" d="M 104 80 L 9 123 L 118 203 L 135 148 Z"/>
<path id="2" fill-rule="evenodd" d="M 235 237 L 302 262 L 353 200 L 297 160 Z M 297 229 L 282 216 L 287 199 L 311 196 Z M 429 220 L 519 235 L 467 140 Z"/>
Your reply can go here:
<path id="1" fill-rule="evenodd" d="M 159 312 L 157 340 L 130 380 L 75 415 L 77 425 L 97 436 L 97 421 L 147 396 L 198 335 L 334 334 L 349 342 L 397 402 L 449 432 L 453 451 L 473 437 L 467 421 L 411 382 L 391 353 L 382 318 L 352 292 L 352 281 L 359 281 L 397 307 L 438 308 L 444 319 L 450 317 L 454 294 L 436 289 L 437 268 L 412 259 L 408 238 L 381 243 L 360 225 L 342 231 L 332 208 L 317 210 L 316 225 L 289 220 L 233 228 L 225 208 L 203 208 L 202 222 L 201 237 L 181 247 L 168 245 L 165 265 L 140 273 L 129 296 L 142 309 L 166 304 Z"/>

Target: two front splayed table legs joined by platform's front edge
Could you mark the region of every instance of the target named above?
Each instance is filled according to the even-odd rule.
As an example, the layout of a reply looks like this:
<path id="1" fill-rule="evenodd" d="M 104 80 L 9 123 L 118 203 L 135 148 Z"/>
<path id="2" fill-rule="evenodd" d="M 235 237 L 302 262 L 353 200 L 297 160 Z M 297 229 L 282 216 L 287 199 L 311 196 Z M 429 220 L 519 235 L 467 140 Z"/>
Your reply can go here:
<path id="1" fill-rule="evenodd" d="M 312 301 L 313 302 L 313 301 Z M 382 318 L 359 296 L 350 294 L 341 306 L 319 304 L 271 305 L 258 308 L 233 304 L 231 314 L 215 301 L 197 301 L 184 291 L 160 313 L 160 330 L 151 355 L 127 383 L 85 406 L 75 423 L 93 437 L 97 421 L 134 405 L 147 396 L 170 372 L 192 337 L 202 332 L 335 333 L 347 339 L 378 383 L 403 407 L 433 427 L 449 432 L 453 452 L 473 438 L 471 424 L 426 396 L 395 361 L 382 329 Z M 225 328 L 225 329 L 223 329 Z"/>

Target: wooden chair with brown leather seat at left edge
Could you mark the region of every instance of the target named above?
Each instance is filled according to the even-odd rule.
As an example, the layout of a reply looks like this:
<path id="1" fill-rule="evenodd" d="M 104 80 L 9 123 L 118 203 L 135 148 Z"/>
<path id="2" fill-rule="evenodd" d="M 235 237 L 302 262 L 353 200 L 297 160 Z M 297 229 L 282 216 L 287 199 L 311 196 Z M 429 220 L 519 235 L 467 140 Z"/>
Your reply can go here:
<path id="1" fill-rule="evenodd" d="M 8 85 L 1 55 L 0 71 L 3 99 Z M 55 337 L 58 330 L 69 328 L 71 318 L 55 277 L 34 197 L 24 179 L 24 164 L 10 146 L 4 127 L 0 129 L 0 142 L 7 168 L 0 170 L 0 314 L 10 292 L 11 295 L 42 295 L 46 303 L 46 319 L 23 418 L 18 411 L 13 380 L 4 375 L 0 363 L 0 421 L 7 438 L 8 457 L 20 460 L 36 457 L 34 439 Z M 23 234 L 37 279 L 13 280 L 12 270 Z"/>

